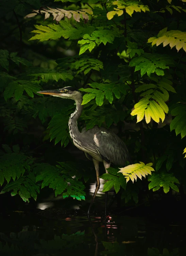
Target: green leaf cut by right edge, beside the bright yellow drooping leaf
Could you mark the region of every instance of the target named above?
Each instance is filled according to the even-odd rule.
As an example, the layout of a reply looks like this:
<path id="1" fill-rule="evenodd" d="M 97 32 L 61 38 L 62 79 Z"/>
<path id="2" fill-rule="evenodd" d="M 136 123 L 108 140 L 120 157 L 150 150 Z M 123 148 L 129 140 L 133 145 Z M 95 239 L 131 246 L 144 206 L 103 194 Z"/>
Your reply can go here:
<path id="1" fill-rule="evenodd" d="M 175 116 L 170 124 L 170 130 L 175 130 L 176 136 L 181 133 L 181 137 L 186 136 L 186 106 L 183 104 L 177 104 L 174 109 L 171 110 L 171 115 Z"/>

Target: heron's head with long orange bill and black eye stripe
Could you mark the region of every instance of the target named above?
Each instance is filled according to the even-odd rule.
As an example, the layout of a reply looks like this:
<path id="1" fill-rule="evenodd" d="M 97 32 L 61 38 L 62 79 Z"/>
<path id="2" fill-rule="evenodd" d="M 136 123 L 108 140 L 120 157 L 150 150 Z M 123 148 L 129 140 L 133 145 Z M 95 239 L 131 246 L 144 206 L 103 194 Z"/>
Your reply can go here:
<path id="1" fill-rule="evenodd" d="M 82 100 L 82 95 L 81 93 L 74 87 L 67 86 L 62 89 L 57 89 L 57 90 L 47 90 L 47 91 L 41 91 L 37 92 L 41 94 L 49 94 L 54 97 L 60 97 L 60 98 L 65 98 L 65 99 L 74 99 L 77 101 Z"/>

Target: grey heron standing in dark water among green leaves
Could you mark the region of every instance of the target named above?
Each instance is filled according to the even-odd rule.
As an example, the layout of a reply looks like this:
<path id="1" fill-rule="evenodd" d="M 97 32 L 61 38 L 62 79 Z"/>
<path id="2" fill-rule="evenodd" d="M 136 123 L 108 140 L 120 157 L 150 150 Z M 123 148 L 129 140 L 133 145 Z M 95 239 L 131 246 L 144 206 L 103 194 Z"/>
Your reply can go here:
<path id="1" fill-rule="evenodd" d="M 84 151 L 86 157 L 93 161 L 96 170 L 96 188 L 89 206 L 89 214 L 90 208 L 100 187 L 99 162 L 103 162 L 106 173 L 108 173 L 107 168 L 110 167 L 110 163 L 124 166 L 126 160 L 130 161 L 127 147 L 115 133 L 104 127 L 99 128 L 95 125 L 88 131 L 82 129 L 82 131 L 79 132 L 77 120 L 81 116 L 83 110 L 83 105 L 81 105 L 83 99 L 81 92 L 74 87 L 67 86 L 58 90 L 47 90 L 38 93 L 75 100 L 76 109 L 71 114 L 68 121 L 69 133 L 74 145 Z M 107 205 L 107 192 L 105 205 Z"/>

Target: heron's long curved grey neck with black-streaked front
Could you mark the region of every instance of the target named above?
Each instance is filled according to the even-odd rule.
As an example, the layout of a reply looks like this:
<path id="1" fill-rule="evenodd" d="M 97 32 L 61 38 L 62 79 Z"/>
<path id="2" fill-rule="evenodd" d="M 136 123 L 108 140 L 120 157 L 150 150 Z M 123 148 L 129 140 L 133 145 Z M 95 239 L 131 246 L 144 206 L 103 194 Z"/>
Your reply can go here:
<path id="1" fill-rule="evenodd" d="M 70 119 L 68 121 L 68 127 L 69 127 L 69 133 L 71 138 L 73 139 L 74 144 L 78 141 L 77 138 L 79 138 L 80 132 L 78 130 L 77 126 L 77 120 L 81 116 L 81 113 L 83 111 L 83 106 L 81 105 L 81 100 L 75 100 L 76 102 L 76 109 L 74 113 L 71 114 Z"/>

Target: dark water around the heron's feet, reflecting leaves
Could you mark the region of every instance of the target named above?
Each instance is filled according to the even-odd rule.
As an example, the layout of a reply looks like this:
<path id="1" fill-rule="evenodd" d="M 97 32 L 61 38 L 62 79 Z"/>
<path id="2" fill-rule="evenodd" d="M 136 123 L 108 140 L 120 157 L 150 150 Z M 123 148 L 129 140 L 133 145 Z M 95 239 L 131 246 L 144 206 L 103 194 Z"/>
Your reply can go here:
<path id="1" fill-rule="evenodd" d="M 90 186 L 88 199 L 93 187 L 94 184 Z M 109 198 L 111 200 L 112 192 Z M 36 207 L 42 210 L 50 207 L 51 212 L 59 205 L 80 210 L 65 217 L 56 217 L 55 212 L 50 217 L 29 211 L 1 213 L 0 256 L 186 255 L 186 214 L 183 211 L 172 208 L 171 212 L 171 207 L 162 206 L 157 211 L 154 208 L 151 214 L 144 208 L 139 213 L 136 208 L 132 212 L 108 214 L 105 225 L 104 194 L 98 193 L 94 207 L 99 211 L 91 220 L 82 211 L 88 204 L 72 198 L 55 200 L 51 195 L 40 200 Z"/>

